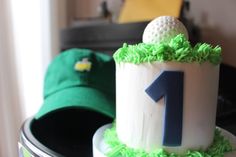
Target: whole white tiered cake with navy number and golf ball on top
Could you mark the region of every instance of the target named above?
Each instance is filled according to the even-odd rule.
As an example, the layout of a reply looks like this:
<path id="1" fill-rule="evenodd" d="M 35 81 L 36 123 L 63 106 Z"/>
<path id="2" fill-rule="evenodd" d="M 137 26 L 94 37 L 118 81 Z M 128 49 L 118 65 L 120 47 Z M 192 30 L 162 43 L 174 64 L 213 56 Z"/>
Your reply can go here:
<path id="1" fill-rule="evenodd" d="M 215 126 L 221 48 L 192 46 L 185 26 L 161 16 L 116 61 L 116 120 L 94 135 L 94 157 L 233 157 Z"/>

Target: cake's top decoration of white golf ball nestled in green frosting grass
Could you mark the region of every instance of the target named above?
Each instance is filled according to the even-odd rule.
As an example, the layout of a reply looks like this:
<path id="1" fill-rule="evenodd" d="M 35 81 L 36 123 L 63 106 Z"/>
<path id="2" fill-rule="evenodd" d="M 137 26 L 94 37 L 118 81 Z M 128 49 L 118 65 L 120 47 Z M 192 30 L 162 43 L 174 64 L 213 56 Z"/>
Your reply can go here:
<path id="1" fill-rule="evenodd" d="M 123 44 L 114 54 L 117 63 L 141 64 L 145 62 L 221 62 L 221 47 L 207 43 L 192 46 L 184 24 L 173 16 L 153 19 L 143 32 L 143 42 L 136 45 Z"/>

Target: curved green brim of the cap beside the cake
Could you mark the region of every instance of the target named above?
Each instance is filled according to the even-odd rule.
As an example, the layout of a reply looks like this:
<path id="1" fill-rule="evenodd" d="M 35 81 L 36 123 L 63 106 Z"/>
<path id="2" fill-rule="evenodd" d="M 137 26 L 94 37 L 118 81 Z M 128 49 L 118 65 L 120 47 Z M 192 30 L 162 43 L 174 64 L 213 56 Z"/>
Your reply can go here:
<path id="1" fill-rule="evenodd" d="M 95 88 L 82 86 L 66 88 L 47 97 L 39 112 L 35 115 L 35 119 L 69 107 L 93 110 L 111 118 L 115 117 L 114 94 L 104 94 Z"/>

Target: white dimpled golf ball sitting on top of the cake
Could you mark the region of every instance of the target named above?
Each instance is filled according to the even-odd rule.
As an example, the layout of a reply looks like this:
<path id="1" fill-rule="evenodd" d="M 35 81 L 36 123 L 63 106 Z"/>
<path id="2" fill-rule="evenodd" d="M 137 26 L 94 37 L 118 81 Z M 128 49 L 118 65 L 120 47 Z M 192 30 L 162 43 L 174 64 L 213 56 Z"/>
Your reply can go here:
<path id="1" fill-rule="evenodd" d="M 143 42 L 156 44 L 169 42 L 178 34 L 184 34 L 188 39 L 188 32 L 185 26 L 175 17 L 160 16 L 152 20 L 143 32 Z"/>

